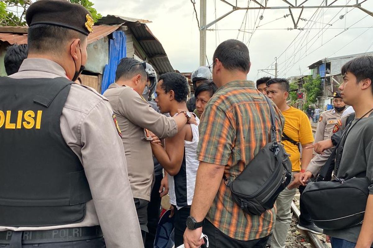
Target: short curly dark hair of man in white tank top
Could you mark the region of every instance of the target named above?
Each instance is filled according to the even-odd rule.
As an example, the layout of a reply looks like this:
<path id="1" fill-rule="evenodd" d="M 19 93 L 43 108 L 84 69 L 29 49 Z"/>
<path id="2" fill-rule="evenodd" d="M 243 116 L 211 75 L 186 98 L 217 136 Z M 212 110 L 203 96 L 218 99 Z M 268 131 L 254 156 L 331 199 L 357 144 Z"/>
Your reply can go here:
<path id="1" fill-rule="evenodd" d="M 171 90 L 175 92 L 176 102 L 186 102 L 189 88 L 186 78 L 180 73 L 164 73 L 160 75 L 158 82 L 163 80 L 161 88 L 168 93 Z"/>

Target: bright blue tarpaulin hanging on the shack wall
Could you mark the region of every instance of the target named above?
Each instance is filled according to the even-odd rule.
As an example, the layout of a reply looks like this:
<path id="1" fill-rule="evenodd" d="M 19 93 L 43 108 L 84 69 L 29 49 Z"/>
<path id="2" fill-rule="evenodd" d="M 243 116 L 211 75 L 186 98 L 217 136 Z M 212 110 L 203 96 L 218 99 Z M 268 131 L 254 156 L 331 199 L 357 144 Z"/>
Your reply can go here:
<path id="1" fill-rule="evenodd" d="M 101 94 L 115 81 L 115 71 L 119 61 L 127 55 L 126 42 L 126 35 L 123 31 L 113 32 L 113 39 L 109 41 L 109 64 L 105 65 Z"/>

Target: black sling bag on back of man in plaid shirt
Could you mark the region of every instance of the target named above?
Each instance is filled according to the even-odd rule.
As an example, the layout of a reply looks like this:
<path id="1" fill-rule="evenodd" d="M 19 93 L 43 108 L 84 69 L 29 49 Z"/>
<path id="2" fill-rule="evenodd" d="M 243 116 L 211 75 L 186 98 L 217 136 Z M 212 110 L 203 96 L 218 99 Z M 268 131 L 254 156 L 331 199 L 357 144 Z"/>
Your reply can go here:
<path id="1" fill-rule="evenodd" d="M 267 97 L 266 100 L 271 113 L 271 142 L 259 151 L 235 180 L 224 176 L 233 200 L 249 215 L 261 215 L 272 209 L 278 195 L 291 181 L 289 155 L 280 141 L 276 141 L 275 113 Z"/>

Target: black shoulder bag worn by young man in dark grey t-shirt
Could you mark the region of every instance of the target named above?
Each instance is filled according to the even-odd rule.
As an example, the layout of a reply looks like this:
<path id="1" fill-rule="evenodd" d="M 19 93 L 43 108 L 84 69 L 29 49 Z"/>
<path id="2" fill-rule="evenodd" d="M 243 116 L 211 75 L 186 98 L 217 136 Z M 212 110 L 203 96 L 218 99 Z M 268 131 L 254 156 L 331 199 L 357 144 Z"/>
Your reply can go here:
<path id="1" fill-rule="evenodd" d="M 305 207 L 310 213 L 311 219 L 319 228 L 325 230 L 345 229 L 363 223 L 369 196 L 368 187 L 370 186 L 366 173 L 348 180 L 336 178 L 328 181 L 331 178 L 333 170 L 334 175 L 338 172 L 347 135 L 357 122 L 353 125 L 351 123 L 348 124 L 341 140 L 335 146 L 329 159 L 320 170 L 316 182 L 308 183 L 301 196 Z M 342 146 L 336 156 L 334 167 L 331 163 L 332 158 L 336 154 L 340 144 Z M 341 205 L 341 201 L 347 204 Z"/>

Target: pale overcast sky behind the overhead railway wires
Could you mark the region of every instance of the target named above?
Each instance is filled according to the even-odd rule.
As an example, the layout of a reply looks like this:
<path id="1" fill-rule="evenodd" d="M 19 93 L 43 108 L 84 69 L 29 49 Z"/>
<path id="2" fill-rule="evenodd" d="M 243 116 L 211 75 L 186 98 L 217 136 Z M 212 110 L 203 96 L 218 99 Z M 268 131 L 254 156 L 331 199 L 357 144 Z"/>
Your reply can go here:
<path id="1" fill-rule="evenodd" d="M 103 16 L 120 15 L 152 21 L 148 26 L 162 43 L 173 68 L 181 72 L 191 72 L 198 67 L 199 30 L 190 0 L 91 1 Z M 234 0 L 228 1 L 235 3 Z M 320 5 L 322 2 L 323 0 L 310 0 L 307 4 Z M 355 2 L 338 0 L 334 5 Z M 200 0 L 195 0 L 195 3 L 200 19 Z M 239 7 L 245 7 L 247 3 L 248 0 L 238 0 Z M 269 3 L 271 6 L 286 5 L 281 0 L 271 0 Z M 251 3 L 250 6 L 254 4 Z M 373 12 L 373 0 L 366 1 L 362 7 Z M 219 17 L 231 9 L 220 0 L 207 0 L 207 23 L 213 21 L 215 15 Z M 300 9 L 292 12 L 297 20 Z M 271 65 L 275 57 L 278 57 L 279 76 L 290 77 L 308 74 L 307 66 L 322 58 L 373 51 L 373 17 L 357 8 L 305 9 L 301 16 L 305 20 L 298 23 L 298 28 L 305 28 L 302 31 L 287 30 L 294 28 L 294 24 L 291 16 L 283 17 L 289 13 L 286 9 L 264 12 L 250 10 L 246 19 L 245 13 L 245 10 L 233 12 L 217 23 L 218 31 L 207 31 L 207 57 L 211 63 L 216 45 L 238 37 L 248 45 L 250 51 L 252 66 L 248 78 L 251 80 L 269 75 L 258 70 L 274 68 Z M 263 15 L 262 20 L 257 18 L 260 15 Z M 345 15 L 343 19 L 339 18 L 341 15 Z M 328 23 L 333 25 L 327 25 Z M 238 32 L 241 25 L 242 29 L 246 26 L 245 32 Z M 346 28 L 348 29 L 345 30 Z M 216 26 L 213 25 L 210 29 L 216 29 Z M 253 34 L 248 33 L 253 32 L 253 29 L 256 29 Z M 274 74 L 273 70 L 268 72 Z"/>

